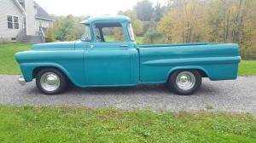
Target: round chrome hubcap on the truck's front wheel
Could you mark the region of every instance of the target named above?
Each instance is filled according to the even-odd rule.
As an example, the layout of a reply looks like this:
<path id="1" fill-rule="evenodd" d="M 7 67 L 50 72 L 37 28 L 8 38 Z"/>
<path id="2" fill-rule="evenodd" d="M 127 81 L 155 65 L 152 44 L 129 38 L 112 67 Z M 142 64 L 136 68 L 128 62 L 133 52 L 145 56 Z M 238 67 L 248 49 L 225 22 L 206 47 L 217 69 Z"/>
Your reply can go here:
<path id="1" fill-rule="evenodd" d="M 55 91 L 60 87 L 60 77 L 54 72 L 45 72 L 40 79 L 41 86 L 49 92 Z"/>

